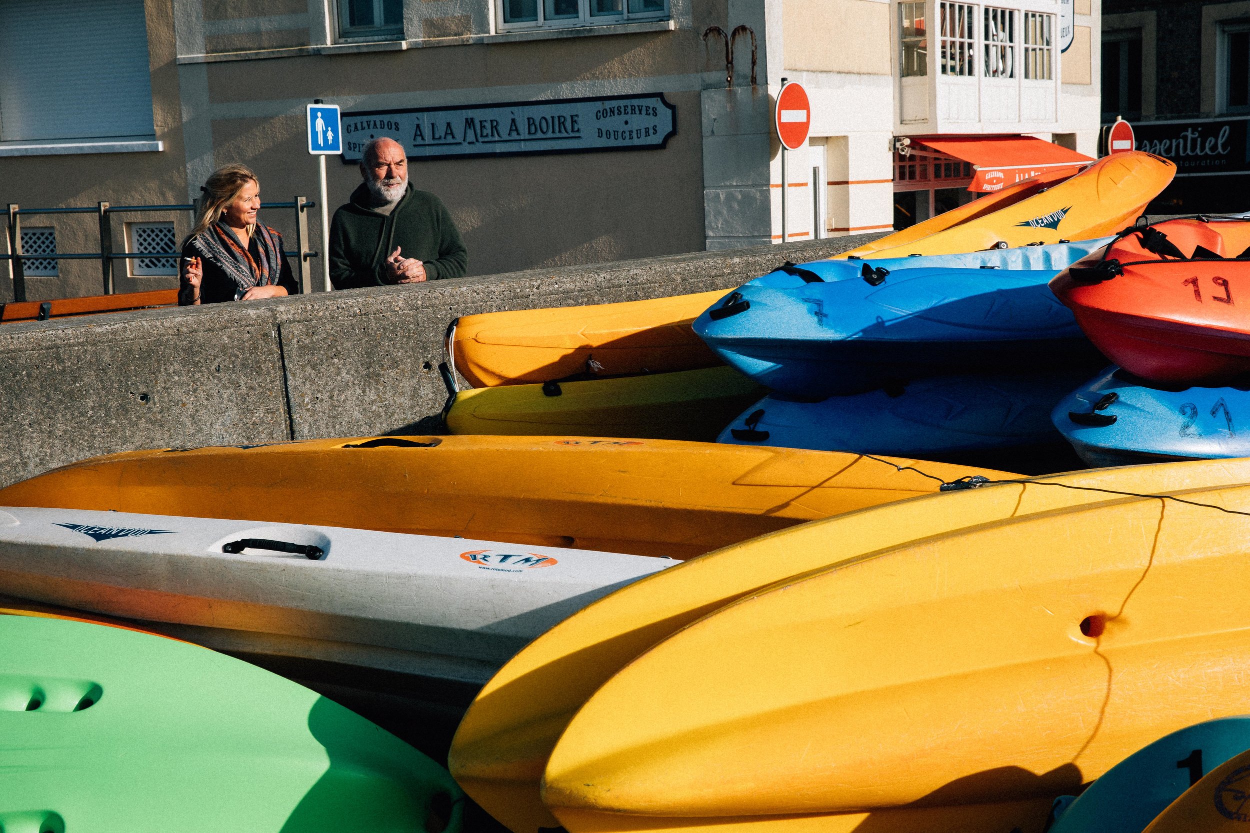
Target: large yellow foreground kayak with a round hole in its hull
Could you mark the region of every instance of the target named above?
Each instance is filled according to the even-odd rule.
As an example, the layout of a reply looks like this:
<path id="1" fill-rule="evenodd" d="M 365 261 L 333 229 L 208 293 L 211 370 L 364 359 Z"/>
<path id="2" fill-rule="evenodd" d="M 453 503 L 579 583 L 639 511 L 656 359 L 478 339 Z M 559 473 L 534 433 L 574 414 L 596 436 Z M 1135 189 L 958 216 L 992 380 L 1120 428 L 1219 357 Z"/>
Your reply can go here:
<path id="1" fill-rule="evenodd" d="M 1241 714 L 1250 486 L 1176 497 L 938 535 L 724 607 L 594 693 L 544 801 L 571 833 L 1034 802 Z"/>

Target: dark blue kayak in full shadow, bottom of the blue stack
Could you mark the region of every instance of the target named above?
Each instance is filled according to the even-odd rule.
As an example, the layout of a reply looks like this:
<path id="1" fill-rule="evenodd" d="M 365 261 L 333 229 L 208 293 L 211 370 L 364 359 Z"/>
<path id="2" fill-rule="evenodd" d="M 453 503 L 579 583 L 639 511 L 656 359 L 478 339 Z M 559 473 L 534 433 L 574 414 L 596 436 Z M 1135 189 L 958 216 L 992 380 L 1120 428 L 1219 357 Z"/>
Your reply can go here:
<path id="1" fill-rule="evenodd" d="M 1061 441 L 1050 411 L 1085 371 L 934 376 L 819 402 L 764 397 L 718 442 L 859 451 L 900 457 L 1005 450 Z"/>

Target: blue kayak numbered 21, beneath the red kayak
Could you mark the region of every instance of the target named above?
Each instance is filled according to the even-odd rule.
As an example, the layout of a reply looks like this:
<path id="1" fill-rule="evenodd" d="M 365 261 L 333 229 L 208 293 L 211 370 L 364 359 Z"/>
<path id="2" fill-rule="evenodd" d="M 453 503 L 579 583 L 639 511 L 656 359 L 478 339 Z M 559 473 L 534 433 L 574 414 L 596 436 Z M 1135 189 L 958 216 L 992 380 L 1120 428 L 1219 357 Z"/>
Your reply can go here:
<path id="1" fill-rule="evenodd" d="M 1150 387 L 1111 367 L 1051 415 L 1090 466 L 1250 457 L 1250 390 Z"/>

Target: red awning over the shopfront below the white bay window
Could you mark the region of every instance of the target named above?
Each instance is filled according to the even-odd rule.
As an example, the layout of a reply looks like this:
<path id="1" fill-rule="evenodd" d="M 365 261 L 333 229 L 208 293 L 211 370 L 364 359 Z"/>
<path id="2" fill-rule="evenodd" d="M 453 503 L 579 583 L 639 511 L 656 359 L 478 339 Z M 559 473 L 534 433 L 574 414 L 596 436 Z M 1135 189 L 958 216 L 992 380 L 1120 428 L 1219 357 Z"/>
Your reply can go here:
<path id="1" fill-rule="evenodd" d="M 911 142 L 971 162 L 976 172 L 969 191 L 1001 191 L 1046 171 L 1071 169 L 1075 174 L 1094 161 L 1032 136 L 918 136 Z"/>

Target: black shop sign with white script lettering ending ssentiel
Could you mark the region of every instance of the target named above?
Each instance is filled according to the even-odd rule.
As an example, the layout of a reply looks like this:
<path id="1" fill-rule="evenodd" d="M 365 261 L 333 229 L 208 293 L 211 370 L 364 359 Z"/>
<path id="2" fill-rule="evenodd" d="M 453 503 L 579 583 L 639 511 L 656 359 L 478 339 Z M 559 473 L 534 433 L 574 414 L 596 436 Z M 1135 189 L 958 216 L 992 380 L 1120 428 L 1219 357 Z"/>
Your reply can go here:
<path id="1" fill-rule="evenodd" d="M 1140 121 L 1134 125 L 1138 150 L 1176 164 L 1178 176 L 1250 171 L 1246 119 Z"/>

